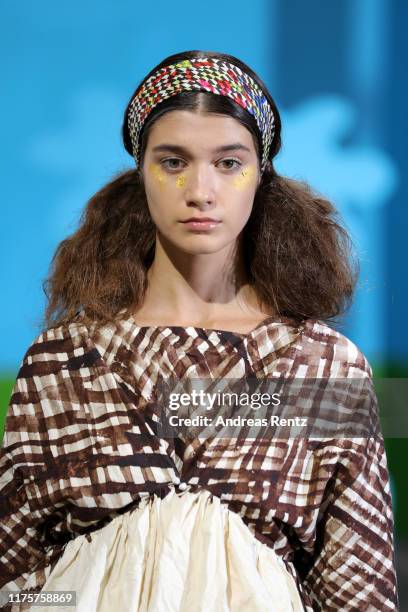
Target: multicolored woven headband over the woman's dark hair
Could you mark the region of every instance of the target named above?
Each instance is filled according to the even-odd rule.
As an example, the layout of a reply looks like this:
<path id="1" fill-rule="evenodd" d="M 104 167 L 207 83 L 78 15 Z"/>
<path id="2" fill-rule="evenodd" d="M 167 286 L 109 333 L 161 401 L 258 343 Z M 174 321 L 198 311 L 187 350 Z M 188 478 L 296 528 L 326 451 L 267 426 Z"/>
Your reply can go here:
<path id="1" fill-rule="evenodd" d="M 231 98 L 256 120 L 262 136 L 261 172 L 275 131 L 272 108 L 255 81 L 238 66 L 213 58 L 192 58 L 161 68 L 140 87 L 130 103 L 128 126 L 133 157 L 140 166 L 140 134 L 147 116 L 166 98 L 182 91 L 211 91 Z"/>

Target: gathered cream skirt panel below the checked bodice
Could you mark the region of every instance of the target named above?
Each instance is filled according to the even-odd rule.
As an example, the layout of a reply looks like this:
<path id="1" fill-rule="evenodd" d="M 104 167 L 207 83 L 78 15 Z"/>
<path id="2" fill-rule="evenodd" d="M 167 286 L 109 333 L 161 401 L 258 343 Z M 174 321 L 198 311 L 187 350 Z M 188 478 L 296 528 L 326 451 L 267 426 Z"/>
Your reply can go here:
<path id="1" fill-rule="evenodd" d="M 89 537 L 89 536 L 88 536 Z M 143 498 L 70 541 L 43 591 L 76 591 L 76 607 L 37 612 L 300 612 L 276 553 L 209 491 Z"/>

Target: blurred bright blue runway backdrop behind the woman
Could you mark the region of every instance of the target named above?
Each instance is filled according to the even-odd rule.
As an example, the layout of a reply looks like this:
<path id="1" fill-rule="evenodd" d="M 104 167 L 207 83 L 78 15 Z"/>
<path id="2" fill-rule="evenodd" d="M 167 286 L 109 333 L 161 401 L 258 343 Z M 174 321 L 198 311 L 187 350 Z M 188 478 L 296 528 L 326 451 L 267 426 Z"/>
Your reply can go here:
<path id="1" fill-rule="evenodd" d="M 407 375 L 406 2 L 2 0 L 1 13 L 3 418 L 38 334 L 54 249 L 87 199 L 132 166 L 120 141 L 130 94 L 188 49 L 236 55 L 266 82 L 282 112 L 279 171 L 331 198 L 358 249 L 359 287 L 340 331 L 376 375 Z M 401 536 L 407 448 L 387 440 Z"/>

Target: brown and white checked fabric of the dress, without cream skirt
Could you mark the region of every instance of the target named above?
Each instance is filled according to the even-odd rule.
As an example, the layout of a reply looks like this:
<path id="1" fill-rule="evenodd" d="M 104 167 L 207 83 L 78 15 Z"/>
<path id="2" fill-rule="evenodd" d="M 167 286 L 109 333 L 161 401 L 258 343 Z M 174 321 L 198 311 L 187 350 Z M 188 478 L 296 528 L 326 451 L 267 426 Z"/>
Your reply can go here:
<path id="1" fill-rule="evenodd" d="M 271 317 L 239 334 L 133 318 L 96 330 L 78 319 L 41 334 L 18 373 L 0 455 L 0 587 L 40 590 L 69 540 L 180 478 L 274 548 L 309 612 L 397 610 L 381 434 L 241 444 L 155 433 L 160 377 L 281 374 L 371 380 L 355 345 L 313 320 Z"/>

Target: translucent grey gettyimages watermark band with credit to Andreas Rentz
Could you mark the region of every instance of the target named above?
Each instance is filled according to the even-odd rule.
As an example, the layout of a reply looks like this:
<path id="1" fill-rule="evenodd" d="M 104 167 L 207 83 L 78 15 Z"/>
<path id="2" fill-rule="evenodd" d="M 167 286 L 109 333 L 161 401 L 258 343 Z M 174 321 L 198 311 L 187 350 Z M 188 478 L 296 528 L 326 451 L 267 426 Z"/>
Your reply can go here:
<path id="1" fill-rule="evenodd" d="M 390 380 L 386 381 L 388 384 L 384 379 L 382 382 L 385 410 L 389 413 L 394 387 Z M 407 398 L 407 392 L 408 384 L 400 399 Z M 402 432 L 406 430 L 408 437 L 406 406 L 402 410 L 394 402 L 395 418 L 386 419 L 386 435 L 404 437 Z M 371 438 L 379 434 L 380 427 L 384 433 L 376 389 L 368 376 L 341 379 L 170 377 L 158 381 L 150 407 L 157 433 L 167 438 Z"/>

